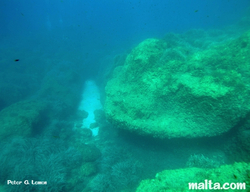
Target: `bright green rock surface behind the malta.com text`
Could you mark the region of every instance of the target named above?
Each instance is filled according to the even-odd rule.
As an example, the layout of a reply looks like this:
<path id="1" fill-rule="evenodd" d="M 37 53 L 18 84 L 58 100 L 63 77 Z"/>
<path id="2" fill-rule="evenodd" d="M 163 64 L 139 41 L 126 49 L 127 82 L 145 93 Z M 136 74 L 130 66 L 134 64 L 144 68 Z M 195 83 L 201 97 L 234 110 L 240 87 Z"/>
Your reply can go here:
<path id="1" fill-rule="evenodd" d="M 225 183 L 245 183 L 246 190 L 250 189 L 250 164 L 235 163 L 233 165 L 223 165 L 215 169 L 186 168 L 176 170 L 165 170 L 157 173 L 154 179 L 143 180 L 139 184 L 136 192 L 179 192 L 192 191 L 189 189 L 189 183 L 207 183 L 211 180 L 211 187 L 216 187 L 219 183 L 222 187 Z M 200 184 L 202 187 L 202 184 Z M 207 189 L 198 191 L 210 191 Z M 225 186 L 228 187 L 228 186 Z M 211 188 L 210 188 L 211 189 Z M 212 189 L 215 190 L 215 189 Z M 193 190 L 196 191 L 196 190 Z M 237 191 L 237 190 L 219 190 L 219 191 Z"/>

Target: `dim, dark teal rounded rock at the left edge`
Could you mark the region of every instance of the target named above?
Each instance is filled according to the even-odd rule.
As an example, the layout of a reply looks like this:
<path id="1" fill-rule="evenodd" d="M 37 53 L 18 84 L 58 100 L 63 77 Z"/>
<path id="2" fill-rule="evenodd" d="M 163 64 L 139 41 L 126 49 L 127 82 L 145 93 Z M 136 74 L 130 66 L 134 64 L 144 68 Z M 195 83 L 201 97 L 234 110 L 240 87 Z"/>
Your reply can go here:
<path id="1" fill-rule="evenodd" d="M 46 104 L 40 101 L 20 101 L 0 112 L 0 138 L 30 136 L 43 124 Z"/>

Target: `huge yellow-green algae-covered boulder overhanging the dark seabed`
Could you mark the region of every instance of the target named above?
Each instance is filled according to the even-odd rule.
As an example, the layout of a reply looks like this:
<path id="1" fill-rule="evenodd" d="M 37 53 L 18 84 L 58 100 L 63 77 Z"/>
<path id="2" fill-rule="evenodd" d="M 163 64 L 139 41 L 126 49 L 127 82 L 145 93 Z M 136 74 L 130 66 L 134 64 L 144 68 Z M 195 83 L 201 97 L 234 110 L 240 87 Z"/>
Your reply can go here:
<path id="1" fill-rule="evenodd" d="M 250 32 L 195 52 L 147 39 L 107 83 L 105 113 L 120 129 L 156 138 L 211 137 L 250 110 Z M 187 52 L 187 51 L 186 51 Z"/>

